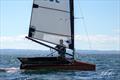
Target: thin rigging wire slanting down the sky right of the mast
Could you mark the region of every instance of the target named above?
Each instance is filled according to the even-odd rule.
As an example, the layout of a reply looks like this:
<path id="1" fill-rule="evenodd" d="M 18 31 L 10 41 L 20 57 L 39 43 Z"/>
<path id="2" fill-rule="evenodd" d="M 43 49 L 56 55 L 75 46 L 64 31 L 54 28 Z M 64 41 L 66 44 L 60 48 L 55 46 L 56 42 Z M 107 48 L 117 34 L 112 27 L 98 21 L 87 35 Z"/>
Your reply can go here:
<path id="1" fill-rule="evenodd" d="M 89 38 L 89 33 L 88 33 L 88 30 L 87 30 L 87 25 L 85 23 L 85 17 L 83 15 L 83 11 L 81 9 L 81 6 L 80 6 L 80 0 L 78 0 L 78 3 L 79 3 L 79 9 L 80 9 L 80 12 L 81 12 L 81 16 L 82 16 L 82 20 L 83 20 L 83 26 L 84 26 L 84 29 L 85 29 L 85 32 L 86 32 L 86 36 L 87 36 L 87 40 L 88 40 L 88 45 L 89 45 L 89 49 L 92 49 L 92 44 L 91 44 L 91 41 L 90 41 L 90 38 Z"/>

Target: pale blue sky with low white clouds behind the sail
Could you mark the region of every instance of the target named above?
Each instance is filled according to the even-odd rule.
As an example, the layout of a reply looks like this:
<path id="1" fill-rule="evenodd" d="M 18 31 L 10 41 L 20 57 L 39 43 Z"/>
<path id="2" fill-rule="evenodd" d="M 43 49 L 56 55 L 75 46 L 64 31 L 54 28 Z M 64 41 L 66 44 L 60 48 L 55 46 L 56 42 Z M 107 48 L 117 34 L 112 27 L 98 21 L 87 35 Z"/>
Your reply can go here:
<path id="1" fill-rule="evenodd" d="M 0 49 L 48 48 L 28 34 L 32 0 L 0 0 Z M 120 50 L 120 0 L 74 0 L 75 48 Z"/>

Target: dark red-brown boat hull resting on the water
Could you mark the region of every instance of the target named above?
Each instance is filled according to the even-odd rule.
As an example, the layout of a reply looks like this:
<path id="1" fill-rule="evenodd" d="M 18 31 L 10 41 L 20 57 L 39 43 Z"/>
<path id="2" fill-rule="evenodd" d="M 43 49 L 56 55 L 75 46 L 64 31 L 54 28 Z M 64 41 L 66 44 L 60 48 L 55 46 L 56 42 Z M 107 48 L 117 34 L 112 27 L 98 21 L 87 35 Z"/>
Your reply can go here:
<path id="1" fill-rule="evenodd" d="M 34 60 L 36 58 L 26 58 L 26 60 L 28 60 L 28 62 L 30 61 L 30 59 L 33 62 L 24 62 L 25 58 L 18 58 L 22 63 L 20 66 L 20 69 L 25 69 L 25 70 L 81 70 L 81 71 L 94 71 L 96 66 L 94 64 L 89 64 L 89 63 L 85 63 L 85 62 L 80 62 L 80 61 L 68 61 L 68 60 L 62 60 L 60 61 L 59 58 L 48 58 L 48 62 L 44 61 L 44 58 L 37 58 L 37 60 L 43 60 L 43 63 L 39 62 L 35 62 Z M 53 62 L 54 59 L 57 59 L 56 61 Z M 23 63 L 24 62 L 24 63 Z M 46 62 L 46 63 L 45 63 Z"/>

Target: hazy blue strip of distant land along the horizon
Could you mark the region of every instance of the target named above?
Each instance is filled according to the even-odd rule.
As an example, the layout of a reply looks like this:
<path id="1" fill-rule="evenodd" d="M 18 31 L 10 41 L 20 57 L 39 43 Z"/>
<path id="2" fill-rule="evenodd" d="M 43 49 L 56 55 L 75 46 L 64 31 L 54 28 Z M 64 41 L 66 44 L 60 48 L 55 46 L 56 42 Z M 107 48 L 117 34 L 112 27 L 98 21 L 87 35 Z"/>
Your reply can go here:
<path id="1" fill-rule="evenodd" d="M 30 50 L 30 49 L 0 49 L 0 54 L 9 53 L 17 54 L 29 52 L 32 53 L 49 53 L 49 50 Z M 76 50 L 76 53 L 80 54 L 120 54 L 120 50 Z"/>

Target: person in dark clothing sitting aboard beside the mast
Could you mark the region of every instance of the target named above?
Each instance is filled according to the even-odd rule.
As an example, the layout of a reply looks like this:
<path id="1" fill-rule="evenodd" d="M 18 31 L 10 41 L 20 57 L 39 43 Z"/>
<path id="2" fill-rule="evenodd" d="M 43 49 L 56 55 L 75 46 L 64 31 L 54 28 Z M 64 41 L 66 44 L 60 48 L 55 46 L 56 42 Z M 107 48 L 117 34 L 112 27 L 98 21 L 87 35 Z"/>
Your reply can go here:
<path id="1" fill-rule="evenodd" d="M 59 57 L 62 58 L 62 59 L 65 59 L 66 47 L 63 44 L 62 39 L 60 39 L 60 44 L 57 45 L 55 48 L 57 48 L 59 50 L 58 51 Z"/>

